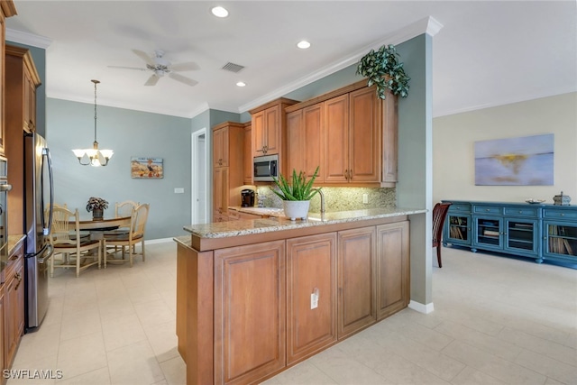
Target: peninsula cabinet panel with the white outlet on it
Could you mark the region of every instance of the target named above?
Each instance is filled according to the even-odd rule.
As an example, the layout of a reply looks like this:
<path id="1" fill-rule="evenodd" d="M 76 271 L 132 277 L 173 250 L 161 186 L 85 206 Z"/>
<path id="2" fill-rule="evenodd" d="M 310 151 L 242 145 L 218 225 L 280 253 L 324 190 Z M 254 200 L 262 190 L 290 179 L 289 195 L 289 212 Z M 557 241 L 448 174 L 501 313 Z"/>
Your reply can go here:
<path id="1" fill-rule="evenodd" d="M 287 285 L 287 363 L 292 363 L 337 338 L 334 233 L 287 240 Z"/>

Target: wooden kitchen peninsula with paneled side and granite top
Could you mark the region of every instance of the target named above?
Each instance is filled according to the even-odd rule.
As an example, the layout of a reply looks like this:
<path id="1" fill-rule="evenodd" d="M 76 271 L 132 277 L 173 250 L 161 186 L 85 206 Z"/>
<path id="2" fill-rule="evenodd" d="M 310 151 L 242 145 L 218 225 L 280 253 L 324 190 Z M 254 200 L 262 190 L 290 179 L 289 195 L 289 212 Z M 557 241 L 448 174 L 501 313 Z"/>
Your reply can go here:
<path id="1" fill-rule="evenodd" d="M 176 238 L 187 384 L 257 383 L 409 301 L 409 217 L 373 208 L 241 219 Z"/>

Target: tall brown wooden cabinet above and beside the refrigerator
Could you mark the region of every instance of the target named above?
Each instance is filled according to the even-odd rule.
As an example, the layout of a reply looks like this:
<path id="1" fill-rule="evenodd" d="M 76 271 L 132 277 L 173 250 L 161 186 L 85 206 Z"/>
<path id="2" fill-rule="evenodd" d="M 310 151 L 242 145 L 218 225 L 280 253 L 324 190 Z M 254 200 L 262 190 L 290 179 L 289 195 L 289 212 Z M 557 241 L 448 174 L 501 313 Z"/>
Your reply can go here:
<path id="1" fill-rule="evenodd" d="M 40 78 L 30 50 L 5 46 L 5 156 L 12 191 L 8 194 L 9 234 L 23 233 L 24 143 L 23 133 L 36 130 L 36 87 Z"/>

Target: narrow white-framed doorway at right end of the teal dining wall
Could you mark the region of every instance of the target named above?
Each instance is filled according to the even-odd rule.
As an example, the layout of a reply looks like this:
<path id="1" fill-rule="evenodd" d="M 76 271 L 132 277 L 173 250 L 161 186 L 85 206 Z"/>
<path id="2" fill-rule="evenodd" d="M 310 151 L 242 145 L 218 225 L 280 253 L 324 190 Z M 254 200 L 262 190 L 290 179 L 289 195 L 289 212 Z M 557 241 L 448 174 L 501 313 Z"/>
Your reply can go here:
<path id="1" fill-rule="evenodd" d="M 206 127 L 192 133 L 192 175 L 191 175 L 191 223 L 192 225 L 208 222 L 208 161 L 209 151 L 206 149 Z"/>

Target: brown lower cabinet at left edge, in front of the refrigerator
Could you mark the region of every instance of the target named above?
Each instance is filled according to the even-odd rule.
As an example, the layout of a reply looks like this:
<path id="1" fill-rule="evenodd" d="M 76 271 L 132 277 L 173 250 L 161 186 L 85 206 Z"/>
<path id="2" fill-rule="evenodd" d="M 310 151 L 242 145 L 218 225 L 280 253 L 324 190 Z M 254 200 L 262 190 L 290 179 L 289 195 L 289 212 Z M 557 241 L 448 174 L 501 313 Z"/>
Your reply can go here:
<path id="1" fill-rule="evenodd" d="M 8 257 L 4 284 L 4 365 L 10 368 L 24 331 L 23 243 Z"/>

